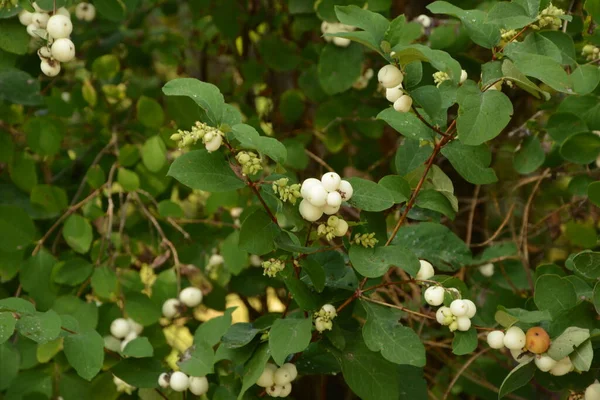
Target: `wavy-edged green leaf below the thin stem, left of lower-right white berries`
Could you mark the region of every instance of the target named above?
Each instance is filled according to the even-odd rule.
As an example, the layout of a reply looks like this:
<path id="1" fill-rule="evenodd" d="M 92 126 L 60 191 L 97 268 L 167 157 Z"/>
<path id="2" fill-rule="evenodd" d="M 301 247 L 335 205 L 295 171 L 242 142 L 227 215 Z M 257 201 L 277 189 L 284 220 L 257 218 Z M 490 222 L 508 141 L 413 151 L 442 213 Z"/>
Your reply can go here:
<path id="1" fill-rule="evenodd" d="M 369 350 L 395 364 L 425 366 L 425 347 L 415 331 L 400 324 L 402 312 L 365 300 L 361 304 L 367 311 L 362 334 Z"/>

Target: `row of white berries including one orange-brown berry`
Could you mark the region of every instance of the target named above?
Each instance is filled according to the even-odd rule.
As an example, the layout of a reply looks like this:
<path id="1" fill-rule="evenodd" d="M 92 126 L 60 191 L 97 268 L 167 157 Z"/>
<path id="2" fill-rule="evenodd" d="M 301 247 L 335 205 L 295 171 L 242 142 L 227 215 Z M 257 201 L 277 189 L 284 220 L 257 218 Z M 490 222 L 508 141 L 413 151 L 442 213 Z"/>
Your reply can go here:
<path id="1" fill-rule="evenodd" d="M 492 331 L 487 336 L 487 342 L 493 349 L 506 347 L 519 363 L 530 362 L 533 359 L 540 371 L 549 372 L 554 376 L 566 375 L 575 368 L 569 356 L 555 360 L 548 355 L 550 337 L 540 327 L 530 328 L 527 333 L 518 326 L 511 326 L 506 333 L 500 330 Z"/>

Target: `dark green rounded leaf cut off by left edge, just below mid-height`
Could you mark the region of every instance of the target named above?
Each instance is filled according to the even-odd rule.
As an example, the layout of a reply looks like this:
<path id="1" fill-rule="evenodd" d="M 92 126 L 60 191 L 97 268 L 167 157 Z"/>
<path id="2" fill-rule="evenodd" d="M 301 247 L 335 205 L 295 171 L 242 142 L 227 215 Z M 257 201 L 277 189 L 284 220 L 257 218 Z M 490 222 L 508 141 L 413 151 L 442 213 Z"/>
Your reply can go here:
<path id="1" fill-rule="evenodd" d="M 17 251 L 31 243 L 34 237 L 35 226 L 23 208 L 0 205 L 1 251 Z"/>

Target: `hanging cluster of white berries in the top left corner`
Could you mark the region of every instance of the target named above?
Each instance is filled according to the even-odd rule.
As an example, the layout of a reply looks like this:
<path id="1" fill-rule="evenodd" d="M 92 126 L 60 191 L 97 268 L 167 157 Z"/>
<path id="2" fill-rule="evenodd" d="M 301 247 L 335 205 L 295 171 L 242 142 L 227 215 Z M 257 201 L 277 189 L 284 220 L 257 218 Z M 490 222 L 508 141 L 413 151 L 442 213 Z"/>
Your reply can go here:
<path id="1" fill-rule="evenodd" d="M 60 63 L 75 58 L 75 45 L 69 38 L 73 31 L 71 13 L 64 7 L 56 12 L 45 11 L 36 3 L 33 3 L 33 7 L 35 9 L 33 13 L 27 10 L 21 11 L 19 21 L 27 26 L 27 33 L 31 37 L 45 41 L 45 44 L 38 49 L 40 69 L 44 75 L 56 76 L 60 72 Z"/>

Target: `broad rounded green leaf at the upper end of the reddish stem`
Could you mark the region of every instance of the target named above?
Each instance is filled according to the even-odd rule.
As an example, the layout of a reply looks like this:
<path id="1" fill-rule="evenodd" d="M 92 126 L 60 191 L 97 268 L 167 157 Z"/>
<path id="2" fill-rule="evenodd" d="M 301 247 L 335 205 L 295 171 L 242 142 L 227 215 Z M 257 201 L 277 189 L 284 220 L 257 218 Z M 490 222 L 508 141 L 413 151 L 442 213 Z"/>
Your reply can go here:
<path id="1" fill-rule="evenodd" d="M 456 129 L 465 145 L 477 146 L 498 136 L 510 122 L 512 103 L 497 90 L 481 92 L 476 85 L 458 89 Z"/>

